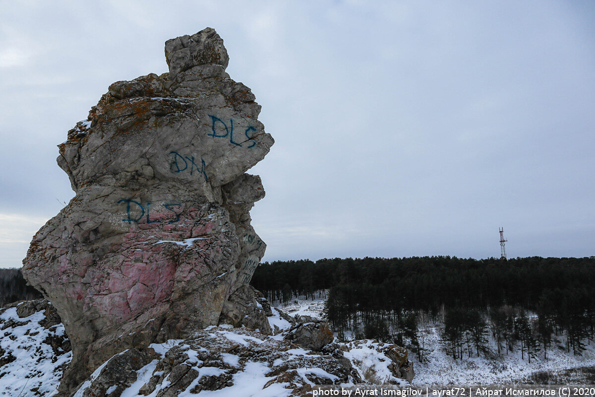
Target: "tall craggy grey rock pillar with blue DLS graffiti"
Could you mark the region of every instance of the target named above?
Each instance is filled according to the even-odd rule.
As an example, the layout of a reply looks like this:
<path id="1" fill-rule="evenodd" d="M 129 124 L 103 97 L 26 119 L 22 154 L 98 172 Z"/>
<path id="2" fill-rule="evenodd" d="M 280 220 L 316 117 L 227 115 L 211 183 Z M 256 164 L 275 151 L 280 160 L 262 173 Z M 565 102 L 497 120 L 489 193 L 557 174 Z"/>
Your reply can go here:
<path id="1" fill-rule="evenodd" d="M 215 30 L 168 40 L 165 56 L 169 73 L 112 84 L 58 145 L 76 196 L 33 237 L 23 274 L 73 346 L 62 393 L 124 349 L 240 326 L 254 299 L 236 292 L 264 255 L 249 215 L 264 189 L 245 172 L 273 138 Z"/>

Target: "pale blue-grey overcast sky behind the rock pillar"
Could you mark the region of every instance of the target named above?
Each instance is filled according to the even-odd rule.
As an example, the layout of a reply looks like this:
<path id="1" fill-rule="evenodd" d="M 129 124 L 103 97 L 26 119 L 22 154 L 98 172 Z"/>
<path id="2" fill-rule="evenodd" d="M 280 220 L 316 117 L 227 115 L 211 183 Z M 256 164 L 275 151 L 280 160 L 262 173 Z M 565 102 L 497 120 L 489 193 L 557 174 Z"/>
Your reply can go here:
<path id="1" fill-rule="evenodd" d="M 275 139 L 263 260 L 595 255 L 595 2 L 0 1 L 0 267 L 73 197 L 67 131 L 207 26 Z"/>

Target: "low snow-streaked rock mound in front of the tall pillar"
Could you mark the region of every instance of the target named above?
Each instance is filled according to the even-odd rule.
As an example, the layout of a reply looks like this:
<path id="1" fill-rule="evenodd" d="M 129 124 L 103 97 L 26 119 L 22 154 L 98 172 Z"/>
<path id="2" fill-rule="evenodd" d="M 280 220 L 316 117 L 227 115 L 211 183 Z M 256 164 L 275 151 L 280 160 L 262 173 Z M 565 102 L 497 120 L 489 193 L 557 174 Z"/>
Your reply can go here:
<path id="1" fill-rule="evenodd" d="M 138 360 L 137 367 L 145 366 L 136 374 L 119 355 L 111 358 L 77 395 L 104 395 L 107 385 L 118 385 L 112 386 L 114 396 L 175 397 L 203 390 L 221 390 L 226 395 L 250 390 L 253 395 L 311 396 L 312 385 L 361 383 L 357 371 L 339 351 L 312 354 L 296 347 L 245 328 L 210 327 L 181 342 L 151 345 L 161 360 L 152 361 L 153 356 Z M 114 360 L 119 363 L 112 364 Z M 114 368 L 121 368 L 120 373 Z M 133 385 L 140 379 L 137 374 L 143 374 L 144 384 Z"/>

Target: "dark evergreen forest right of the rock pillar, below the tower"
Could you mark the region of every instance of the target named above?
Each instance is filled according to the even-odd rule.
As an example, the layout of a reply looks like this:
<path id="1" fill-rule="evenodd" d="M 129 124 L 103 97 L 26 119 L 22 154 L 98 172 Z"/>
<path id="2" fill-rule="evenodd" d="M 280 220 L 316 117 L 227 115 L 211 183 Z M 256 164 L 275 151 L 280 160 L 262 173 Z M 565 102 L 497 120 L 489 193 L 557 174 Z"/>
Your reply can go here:
<path id="1" fill-rule="evenodd" d="M 405 338 L 420 360 L 419 321 L 443 324 L 455 359 L 519 349 L 531 360 L 540 350 L 547 356 L 554 336 L 581 354 L 595 336 L 594 257 L 277 261 L 256 268 L 252 285 L 281 301 L 328 290 L 328 320 L 339 335 L 401 345 Z M 490 334 L 496 348 L 488 348 Z"/>

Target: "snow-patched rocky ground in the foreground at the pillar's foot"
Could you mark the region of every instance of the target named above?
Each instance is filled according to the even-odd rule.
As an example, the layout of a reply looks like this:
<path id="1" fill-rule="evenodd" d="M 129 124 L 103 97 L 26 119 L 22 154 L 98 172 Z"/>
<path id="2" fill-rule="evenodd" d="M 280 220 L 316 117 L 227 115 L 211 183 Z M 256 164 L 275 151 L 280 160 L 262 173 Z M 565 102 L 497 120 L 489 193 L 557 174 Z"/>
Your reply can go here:
<path id="1" fill-rule="evenodd" d="M 136 381 L 129 386 L 105 386 L 105 381 L 100 381 L 93 389 L 93 382 L 102 376 L 104 368 L 108 372 L 118 368 L 117 363 L 115 367 L 108 368 L 113 358 L 106 361 L 77 390 L 74 397 L 98 395 L 105 387 L 106 395 L 117 390 L 117 395 L 121 397 L 191 397 L 197 394 L 207 397 L 288 397 L 292 389 L 314 386 L 316 383 L 311 379 L 315 377 L 326 380 L 328 384 L 353 385 L 351 376 L 346 379 L 348 383 L 340 383 L 340 378 L 334 374 L 338 373 L 336 365 L 334 368 L 325 366 L 333 361 L 325 361 L 322 355 L 302 348 L 287 349 L 291 346 L 248 329 L 234 329 L 228 325 L 208 327 L 190 339 L 152 344 L 150 347 L 161 361 L 153 360 L 137 370 Z M 114 358 L 122 354 L 126 354 L 126 351 Z M 171 365 L 172 362 L 176 364 Z M 181 367 L 184 367 L 184 373 L 190 374 L 189 378 L 193 377 L 192 380 L 183 382 Z M 277 373 L 272 374 L 275 371 Z M 195 374 L 192 375 L 192 372 Z M 278 379 L 274 376 L 278 376 Z M 142 387 L 151 380 L 155 382 L 154 389 L 143 391 Z M 204 381 L 207 383 L 201 383 Z M 211 389 L 212 384 L 208 382 L 219 384 Z M 201 387 L 205 385 L 209 388 Z"/>

